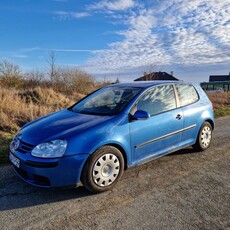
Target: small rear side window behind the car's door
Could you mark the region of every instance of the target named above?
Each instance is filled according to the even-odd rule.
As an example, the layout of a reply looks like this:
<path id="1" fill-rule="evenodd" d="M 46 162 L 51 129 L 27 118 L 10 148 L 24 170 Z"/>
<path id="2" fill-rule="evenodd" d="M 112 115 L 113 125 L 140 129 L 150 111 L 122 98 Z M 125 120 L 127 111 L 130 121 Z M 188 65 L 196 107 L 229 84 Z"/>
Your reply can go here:
<path id="1" fill-rule="evenodd" d="M 193 85 L 176 85 L 180 106 L 192 104 L 199 100 L 199 96 Z"/>

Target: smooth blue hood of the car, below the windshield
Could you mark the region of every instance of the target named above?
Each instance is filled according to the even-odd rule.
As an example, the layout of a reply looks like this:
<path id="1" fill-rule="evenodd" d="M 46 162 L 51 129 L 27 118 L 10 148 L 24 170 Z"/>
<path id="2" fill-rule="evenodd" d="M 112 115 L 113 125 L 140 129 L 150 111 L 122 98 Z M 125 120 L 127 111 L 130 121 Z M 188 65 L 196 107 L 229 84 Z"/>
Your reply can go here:
<path id="1" fill-rule="evenodd" d="M 69 134 L 77 134 L 112 118 L 113 116 L 80 114 L 65 109 L 26 124 L 18 135 L 23 141 L 37 145 L 52 139 L 67 138 Z"/>

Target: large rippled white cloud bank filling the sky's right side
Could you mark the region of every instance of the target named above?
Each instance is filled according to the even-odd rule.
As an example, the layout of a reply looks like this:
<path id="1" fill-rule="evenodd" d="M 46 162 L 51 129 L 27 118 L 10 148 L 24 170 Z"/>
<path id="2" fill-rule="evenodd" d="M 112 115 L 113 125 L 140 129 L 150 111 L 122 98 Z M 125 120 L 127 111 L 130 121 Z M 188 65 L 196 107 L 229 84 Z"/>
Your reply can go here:
<path id="1" fill-rule="evenodd" d="M 121 2 L 128 1 L 117 1 L 117 4 Z M 112 10 L 108 3 L 101 1 L 94 6 Z M 151 64 L 162 67 L 230 63 L 229 0 L 218 3 L 165 0 L 155 7 L 142 5 L 125 16 L 118 14 L 118 19 L 127 27 L 117 31 L 122 40 L 108 44 L 108 50 L 88 60 L 90 71 L 114 73 Z"/>

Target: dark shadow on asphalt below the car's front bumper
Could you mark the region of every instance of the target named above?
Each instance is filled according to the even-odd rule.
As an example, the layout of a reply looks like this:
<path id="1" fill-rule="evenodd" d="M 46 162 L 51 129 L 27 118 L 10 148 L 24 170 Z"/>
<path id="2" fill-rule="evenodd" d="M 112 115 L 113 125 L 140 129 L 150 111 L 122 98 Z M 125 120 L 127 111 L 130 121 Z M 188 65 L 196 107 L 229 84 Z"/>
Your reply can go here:
<path id="1" fill-rule="evenodd" d="M 13 173 L 8 169 L 7 174 Z M 0 183 L 0 211 L 14 210 L 42 204 L 56 203 L 66 200 L 78 200 L 93 194 L 83 186 L 75 188 L 44 189 L 36 188 L 11 174 L 3 178 L 7 181 Z"/>

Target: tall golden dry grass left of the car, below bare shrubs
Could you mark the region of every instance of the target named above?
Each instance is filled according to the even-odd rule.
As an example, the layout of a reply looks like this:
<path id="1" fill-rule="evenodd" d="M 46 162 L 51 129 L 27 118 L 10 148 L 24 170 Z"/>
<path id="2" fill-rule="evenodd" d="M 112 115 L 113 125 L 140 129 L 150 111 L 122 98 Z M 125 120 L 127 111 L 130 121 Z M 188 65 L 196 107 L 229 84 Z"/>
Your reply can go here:
<path id="1" fill-rule="evenodd" d="M 77 95 L 74 100 L 52 88 L 36 87 L 19 91 L 0 86 L 0 130 L 15 132 L 23 124 L 68 107 L 81 97 Z"/>

